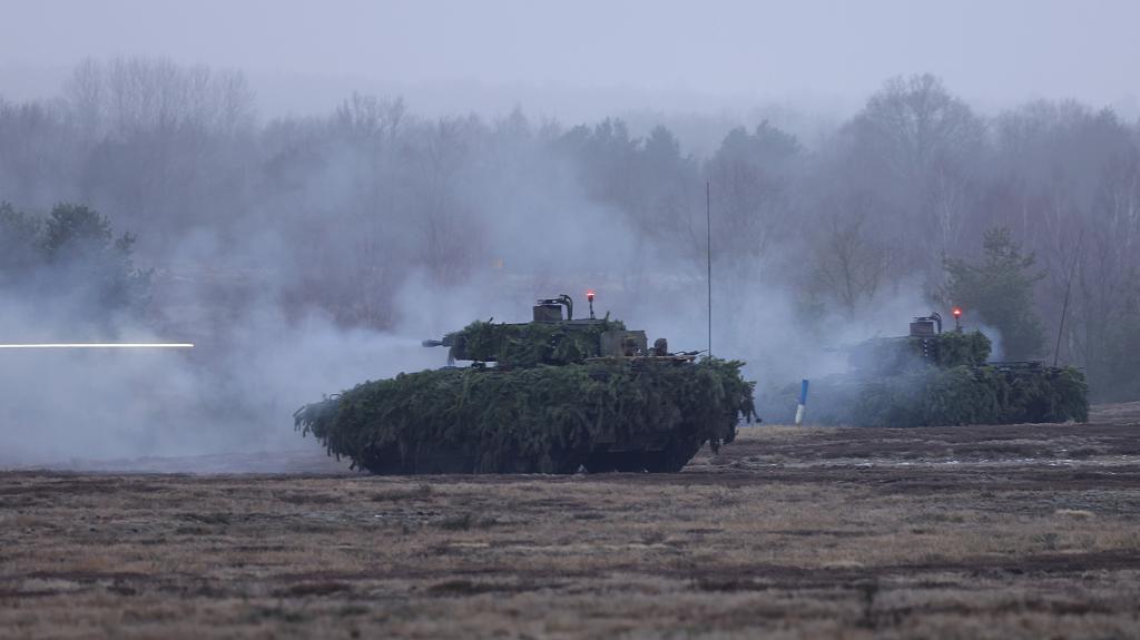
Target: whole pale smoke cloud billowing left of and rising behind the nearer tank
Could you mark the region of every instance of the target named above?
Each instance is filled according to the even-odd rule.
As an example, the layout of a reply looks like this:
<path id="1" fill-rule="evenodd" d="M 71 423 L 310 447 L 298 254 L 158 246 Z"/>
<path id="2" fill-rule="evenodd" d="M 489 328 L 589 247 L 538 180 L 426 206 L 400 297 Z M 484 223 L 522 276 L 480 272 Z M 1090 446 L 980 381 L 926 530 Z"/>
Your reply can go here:
<path id="1" fill-rule="evenodd" d="M 437 140 L 437 133 L 427 128 L 423 134 Z M 462 137 L 440 140 L 445 151 L 463 146 Z M 196 347 L 0 353 L 0 467 L 319 451 L 293 429 L 300 405 L 367 379 L 442 366 L 446 353 L 421 347 L 422 339 L 475 319 L 529 320 L 538 297 L 570 294 L 576 315 L 585 317 L 587 288 L 597 292 L 598 317 L 611 312 L 651 340 L 668 338 L 674 351 L 705 350 L 703 255 L 682 255 L 640 235 L 626 212 L 596 204 L 572 167 L 543 156 L 549 153 L 544 149 L 506 148 L 498 156 L 475 149 L 471 157 L 445 158 L 446 166 L 454 161 L 459 167 L 449 169 L 447 180 L 429 171 L 413 177 L 424 183 L 408 186 L 400 180 L 404 167 L 376 169 L 358 150 L 334 147 L 315 169 L 306 165 L 307 181 L 296 191 L 255 204 L 227 231 L 205 219 L 186 230 L 181 221 L 184 230 L 157 249 L 162 254 L 148 253 L 154 249 L 142 235 L 139 262 L 160 268 L 152 287 L 157 318 L 146 321 L 116 315 L 95 326 L 89 318 L 104 314 L 85 307 L 90 301 L 49 303 L 30 289 L 3 292 L 0 342 Z M 373 189 L 378 171 L 396 178 L 385 174 L 389 181 Z M 114 223 L 115 212 L 105 213 Z M 691 213 L 701 231 L 703 214 Z M 407 266 L 417 264 L 415 247 L 430 230 L 438 231 L 439 254 L 461 256 L 455 264 L 462 269 L 441 277 Z M 299 238 L 306 246 L 295 244 Z M 714 354 L 746 360 L 746 375 L 762 387 L 841 370 L 839 347 L 901 335 L 911 317 L 928 311 L 911 287 L 880 295 L 854 319 L 806 323 L 798 306 L 804 292 L 781 268 L 798 256 L 772 249 L 763 259 L 730 261 L 718 251 L 714 246 Z M 310 293 L 337 286 L 343 289 L 335 300 L 349 292 L 370 301 L 372 311 L 382 305 L 393 328 L 347 329 L 311 311 L 319 304 L 298 304 L 290 297 L 293 285 L 306 278 L 318 284 Z M 392 290 L 375 295 L 381 288 Z"/>

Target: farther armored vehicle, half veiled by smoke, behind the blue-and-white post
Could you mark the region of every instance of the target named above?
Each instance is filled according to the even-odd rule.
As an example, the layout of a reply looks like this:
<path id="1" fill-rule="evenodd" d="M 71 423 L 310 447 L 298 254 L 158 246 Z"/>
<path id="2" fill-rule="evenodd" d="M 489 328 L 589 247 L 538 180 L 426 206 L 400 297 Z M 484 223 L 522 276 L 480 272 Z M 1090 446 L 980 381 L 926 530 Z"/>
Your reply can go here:
<path id="1" fill-rule="evenodd" d="M 954 310 L 955 320 L 960 313 Z M 852 348 L 850 371 L 814 380 L 808 421 L 919 427 L 1088 420 L 1089 389 L 1080 369 L 990 362 L 990 338 L 979 331 L 943 331 L 938 313 L 915 318 L 906 336 Z M 774 409 L 790 415 L 793 393 L 774 399 Z"/>

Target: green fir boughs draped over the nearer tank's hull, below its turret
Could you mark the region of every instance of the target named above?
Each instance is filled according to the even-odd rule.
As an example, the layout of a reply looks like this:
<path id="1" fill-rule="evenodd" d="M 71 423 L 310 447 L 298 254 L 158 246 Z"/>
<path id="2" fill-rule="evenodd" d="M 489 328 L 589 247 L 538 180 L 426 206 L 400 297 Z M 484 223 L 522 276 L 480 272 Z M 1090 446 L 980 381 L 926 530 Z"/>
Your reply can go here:
<path id="1" fill-rule="evenodd" d="M 374 473 L 675 471 L 705 442 L 731 442 L 739 416 L 752 413 L 742 364 L 606 359 L 401 374 L 309 404 L 295 424 Z"/>

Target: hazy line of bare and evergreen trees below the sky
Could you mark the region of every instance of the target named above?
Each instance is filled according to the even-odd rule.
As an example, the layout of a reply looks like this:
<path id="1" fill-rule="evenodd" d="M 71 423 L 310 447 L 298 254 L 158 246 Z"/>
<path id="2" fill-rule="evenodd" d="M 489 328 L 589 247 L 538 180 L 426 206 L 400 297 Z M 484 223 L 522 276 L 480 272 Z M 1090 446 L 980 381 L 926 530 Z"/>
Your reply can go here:
<path id="1" fill-rule="evenodd" d="M 1107 109 L 987 117 L 917 75 L 812 147 L 765 122 L 694 157 L 663 126 L 426 118 L 358 95 L 261 122 L 239 73 L 153 59 L 85 61 L 54 100 L 0 98 L 0 200 L 85 203 L 145 238 L 156 266 L 198 255 L 186 245 L 209 229 L 211 255 L 275 270 L 283 304 L 349 326 L 392 326 L 389 296 L 413 270 L 462 281 L 502 257 L 503 220 L 540 229 L 575 215 L 560 203 L 612 211 L 632 254 L 697 272 L 706 181 L 718 269 L 779 274 L 806 322 L 918 282 L 1002 329 L 1007 358 L 1051 358 L 1068 289 L 1060 360 L 1100 399 L 1140 399 L 1140 125 Z M 15 211 L 8 271 L 50 253 Z"/>

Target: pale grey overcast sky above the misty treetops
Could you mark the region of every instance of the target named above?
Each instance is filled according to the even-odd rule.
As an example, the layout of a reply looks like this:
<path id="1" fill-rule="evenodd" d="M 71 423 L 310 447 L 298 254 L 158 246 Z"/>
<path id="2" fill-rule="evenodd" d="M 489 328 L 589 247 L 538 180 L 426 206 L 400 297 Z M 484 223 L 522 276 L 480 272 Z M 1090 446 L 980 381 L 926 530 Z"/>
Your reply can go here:
<path id="1" fill-rule="evenodd" d="M 52 93 L 84 56 L 237 67 L 262 110 L 348 91 L 429 110 L 573 117 L 765 100 L 848 108 L 933 72 L 983 109 L 1075 97 L 1134 108 L 1140 2 L 0 0 L 0 95 Z M 592 115 L 592 114 L 591 114 Z"/>

